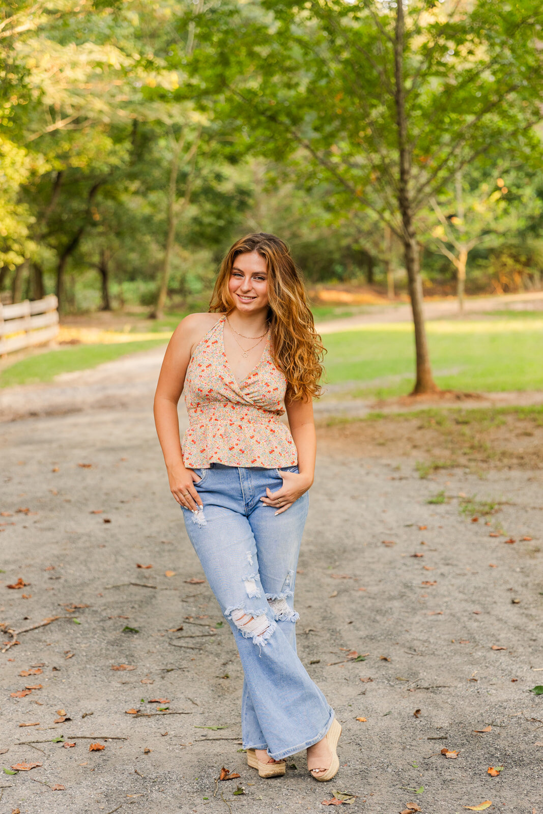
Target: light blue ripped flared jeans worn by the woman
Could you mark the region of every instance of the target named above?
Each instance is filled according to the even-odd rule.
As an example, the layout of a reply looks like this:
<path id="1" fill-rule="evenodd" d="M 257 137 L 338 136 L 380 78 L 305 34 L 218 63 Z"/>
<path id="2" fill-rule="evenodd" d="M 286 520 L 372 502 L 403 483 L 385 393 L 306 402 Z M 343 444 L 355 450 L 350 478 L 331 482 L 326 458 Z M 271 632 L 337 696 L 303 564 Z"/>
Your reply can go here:
<path id="1" fill-rule="evenodd" d="M 243 665 L 243 748 L 282 759 L 320 741 L 334 720 L 296 654 L 293 597 L 309 495 L 275 515 L 260 498 L 267 486 L 281 487 L 277 469 L 212 463 L 193 471 L 204 509 L 183 508 L 183 516 Z"/>

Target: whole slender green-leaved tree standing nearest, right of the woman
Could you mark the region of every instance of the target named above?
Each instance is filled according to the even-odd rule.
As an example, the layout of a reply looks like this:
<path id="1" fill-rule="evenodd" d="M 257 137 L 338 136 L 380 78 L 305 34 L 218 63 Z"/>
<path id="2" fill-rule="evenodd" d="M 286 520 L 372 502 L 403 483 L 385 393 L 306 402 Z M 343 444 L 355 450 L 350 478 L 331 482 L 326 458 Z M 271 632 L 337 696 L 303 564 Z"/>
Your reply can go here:
<path id="1" fill-rule="evenodd" d="M 418 218 L 458 168 L 492 160 L 498 144 L 541 155 L 542 19 L 539 0 L 222 0 L 190 20 L 193 92 L 243 122 L 262 155 L 303 147 L 309 173 L 334 179 L 401 241 L 414 393 L 436 390 Z"/>

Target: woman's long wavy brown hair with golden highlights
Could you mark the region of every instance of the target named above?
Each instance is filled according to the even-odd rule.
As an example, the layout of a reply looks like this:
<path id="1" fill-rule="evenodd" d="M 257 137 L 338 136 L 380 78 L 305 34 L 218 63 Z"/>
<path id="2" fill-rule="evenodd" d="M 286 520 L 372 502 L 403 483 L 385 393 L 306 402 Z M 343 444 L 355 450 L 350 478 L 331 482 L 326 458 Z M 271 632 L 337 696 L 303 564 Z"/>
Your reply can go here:
<path id="1" fill-rule="evenodd" d="M 209 311 L 229 314 L 234 310 L 228 288 L 230 274 L 235 258 L 247 252 L 258 252 L 266 261 L 272 356 L 287 379 L 286 397 L 291 401 L 318 397 L 326 351 L 315 332 L 302 274 L 286 243 L 265 232 L 247 234 L 237 240 L 222 260 Z"/>

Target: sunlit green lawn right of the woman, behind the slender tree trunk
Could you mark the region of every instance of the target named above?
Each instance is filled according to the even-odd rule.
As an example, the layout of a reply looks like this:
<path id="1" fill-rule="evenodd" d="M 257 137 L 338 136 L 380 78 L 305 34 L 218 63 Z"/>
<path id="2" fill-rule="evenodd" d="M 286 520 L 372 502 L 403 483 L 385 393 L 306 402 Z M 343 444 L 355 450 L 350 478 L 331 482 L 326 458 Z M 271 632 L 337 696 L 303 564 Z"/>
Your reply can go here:
<path id="1" fill-rule="evenodd" d="M 543 389 L 543 316 L 427 322 L 436 382 L 452 390 Z M 353 396 L 399 396 L 414 380 L 413 326 L 365 325 L 326 334 L 326 381 Z"/>

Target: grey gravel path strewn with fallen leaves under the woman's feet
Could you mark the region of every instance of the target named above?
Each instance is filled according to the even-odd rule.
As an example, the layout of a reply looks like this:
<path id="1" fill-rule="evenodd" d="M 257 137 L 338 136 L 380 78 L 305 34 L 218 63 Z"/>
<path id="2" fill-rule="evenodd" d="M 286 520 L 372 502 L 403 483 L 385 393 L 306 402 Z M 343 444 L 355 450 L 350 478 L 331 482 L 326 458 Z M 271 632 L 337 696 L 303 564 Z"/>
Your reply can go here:
<path id="1" fill-rule="evenodd" d="M 541 468 L 421 479 L 395 444 L 321 431 L 297 631 L 344 727 L 341 769 L 317 784 L 300 754 L 287 777 L 264 781 L 238 751 L 241 667 L 169 495 L 152 353 L 140 358 L 149 364 L 136 365 L 132 390 L 121 384 L 115 409 L 82 409 L 85 392 L 81 412 L 2 425 L 0 620 L 20 629 L 61 616 L 0 654 L 2 766 L 42 764 L 2 774 L 2 811 L 294 814 L 323 811 L 337 789 L 357 794 L 353 814 L 487 799 L 491 811 L 541 814 L 543 697 L 529 691 L 543 684 Z M 472 522 L 459 495 L 497 511 Z M 7 589 L 19 578 L 23 589 Z M 352 650 L 365 660 L 348 660 Z M 123 664 L 134 669 L 112 669 Z M 20 675 L 29 669 L 42 672 Z M 12 696 L 26 685 L 42 687 Z M 168 709 L 126 713 L 157 712 L 152 698 Z M 61 735 L 76 746 L 50 742 Z M 241 777 L 216 786 L 221 766 Z M 490 766 L 504 769 L 493 778 Z"/>

